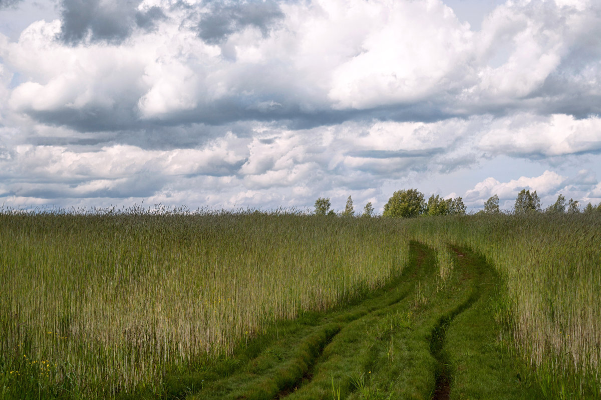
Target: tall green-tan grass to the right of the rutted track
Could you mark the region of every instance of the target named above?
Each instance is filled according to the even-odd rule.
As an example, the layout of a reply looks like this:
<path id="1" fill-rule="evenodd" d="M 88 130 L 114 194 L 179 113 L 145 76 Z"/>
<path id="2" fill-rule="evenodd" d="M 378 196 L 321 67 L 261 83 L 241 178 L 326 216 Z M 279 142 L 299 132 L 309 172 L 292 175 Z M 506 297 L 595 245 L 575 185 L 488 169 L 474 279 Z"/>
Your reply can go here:
<path id="1" fill-rule="evenodd" d="M 469 246 L 504 278 L 516 349 L 549 398 L 601 397 L 601 215 L 407 221 L 423 240 Z"/>

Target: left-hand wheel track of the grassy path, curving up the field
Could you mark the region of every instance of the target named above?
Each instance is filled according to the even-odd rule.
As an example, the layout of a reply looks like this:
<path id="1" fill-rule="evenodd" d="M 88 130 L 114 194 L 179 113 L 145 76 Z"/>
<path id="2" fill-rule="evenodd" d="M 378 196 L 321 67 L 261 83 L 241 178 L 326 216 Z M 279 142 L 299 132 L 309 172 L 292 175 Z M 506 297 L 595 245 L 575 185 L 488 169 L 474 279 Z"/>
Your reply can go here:
<path id="1" fill-rule="evenodd" d="M 244 365 L 231 371 L 224 377 L 216 380 L 206 381 L 204 389 L 192 395 L 191 398 L 219 398 L 219 399 L 245 399 L 245 400 L 271 400 L 285 399 L 295 395 L 307 386 L 314 383 L 314 372 L 317 366 L 327 363 L 332 356 L 341 353 L 332 350 L 332 346 L 348 345 L 349 339 L 359 338 L 365 334 L 365 327 L 371 326 L 380 318 L 398 308 L 399 303 L 406 300 L 413 293 L 416 282 L 422 278 L 432 275 L 434 266 L 431 262 L 425 262 L 429 257 L 430 249 L 422 243 L 414 242 L 413 262 L 406 265 L 400 276 L 374 294 L 358 303 L 350 306 L 346 311 L 334 311 L 325 314 L 323 319 L 312 326 L 301 324 L 300 330 L 294 333 L 295 338 L 284 337 L 273 340 L 264 347 L 257 356 L 248 359 Z M 307 336 L 299 336 L 303 333 Z M 270 353 L 273 346 L 294 349 L 290 356 L 279 359 L 272 367 L 264 372 L 254 372 L 254 360 Z M 331 351 L 326 353 L 326 349 Z M 365 348 L 356 348 L 349 356 L 356 357 L 357 354 L 367 354 L 371 351 Z M 375 362 L 375 355 L 368 356 L 368 363 Z M 368 368 L 361 362 L 362 368 Z M 371 369 L 371 368 L 370 368 Z M 367 371 L 367 370 L 366 370 Z M 236 387 L 234 382 L 239 380 L 242 387 Z M 347 384 L 350 385 L 349 382 Z M 227 389 L 225 388 L 227 387 Z M 219 395 L 213 390 L 219 389 Z M 351 387 L 351 392 L 352 392 Z M 204 395 L 207 395 L 206 397 Z M 293 396 L 294 397 L 294 396 Z"/>

